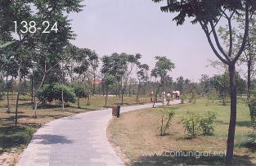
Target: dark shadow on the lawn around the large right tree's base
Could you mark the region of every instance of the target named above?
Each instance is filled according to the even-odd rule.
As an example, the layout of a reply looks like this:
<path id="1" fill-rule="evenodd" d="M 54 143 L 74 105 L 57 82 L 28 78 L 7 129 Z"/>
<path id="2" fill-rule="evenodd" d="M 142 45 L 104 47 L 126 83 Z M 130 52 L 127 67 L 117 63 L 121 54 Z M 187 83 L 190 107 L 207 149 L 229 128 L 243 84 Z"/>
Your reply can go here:
<path id="1" fill-rule="evenodd" d="M 199 152 L 194 152 L 194 156 L 190 155 L 192 151 L 172 151 L 164 152 L 162 155 L 143 155 L 132 161 L 132 165 L 136 166 L 159 166 L 159 165 L 224 165 L 225 157 L 214 156 L 213 153 L 205 154 L 204 156 L 196 155 Z M 203 153 L 203 152 L 201 152 Z M 176 155 L 177 154 L 177 155 Z M 183 154 L 179 155 L 179 154 Z M 234 156 L 234 165 L 254 165 L 248 155 Z"/>

